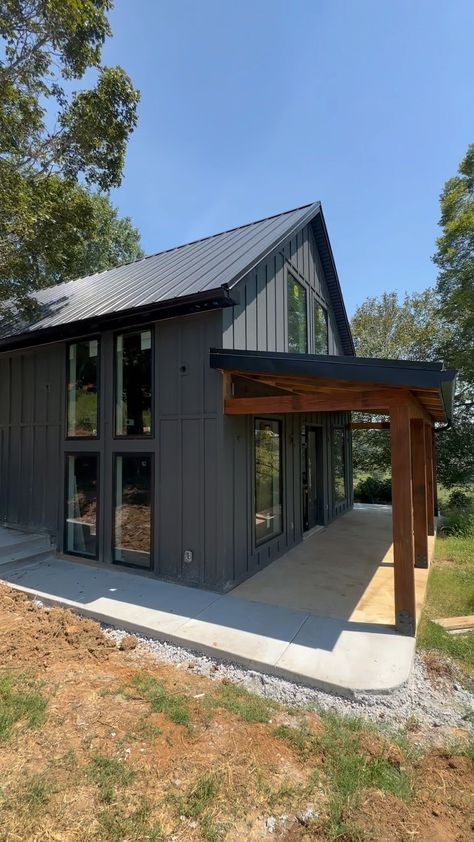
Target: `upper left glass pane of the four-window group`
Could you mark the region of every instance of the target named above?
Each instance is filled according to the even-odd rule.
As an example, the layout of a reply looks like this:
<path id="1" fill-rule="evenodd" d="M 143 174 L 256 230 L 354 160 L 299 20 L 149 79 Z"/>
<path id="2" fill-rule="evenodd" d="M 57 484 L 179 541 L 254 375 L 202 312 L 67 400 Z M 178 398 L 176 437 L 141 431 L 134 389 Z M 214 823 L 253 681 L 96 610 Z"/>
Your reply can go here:
<path id="1" fill-rule="evenodd" d="M 75 342 L 68 349 L 67 434 L 97 437 L 99 342 Z"/>

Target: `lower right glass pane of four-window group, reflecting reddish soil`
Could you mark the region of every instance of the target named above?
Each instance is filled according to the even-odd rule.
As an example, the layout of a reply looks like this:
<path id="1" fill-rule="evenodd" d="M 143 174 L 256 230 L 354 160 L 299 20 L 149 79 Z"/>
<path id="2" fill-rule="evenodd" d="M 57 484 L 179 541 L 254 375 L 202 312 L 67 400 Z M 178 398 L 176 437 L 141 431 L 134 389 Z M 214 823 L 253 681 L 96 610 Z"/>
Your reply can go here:
<path id="1" fill-rule="evenodd" d="M 114 561 L 150 567 L 151 456 L 115 457 Z"/>

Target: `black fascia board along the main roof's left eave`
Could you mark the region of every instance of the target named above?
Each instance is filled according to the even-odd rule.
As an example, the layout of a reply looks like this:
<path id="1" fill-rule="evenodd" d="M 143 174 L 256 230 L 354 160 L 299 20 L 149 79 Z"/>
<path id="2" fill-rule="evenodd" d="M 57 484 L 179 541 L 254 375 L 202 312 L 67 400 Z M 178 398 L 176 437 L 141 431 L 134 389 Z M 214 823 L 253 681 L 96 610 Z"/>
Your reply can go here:
<path id="1" fill-rule="evenodd" d="M 104 313 L 103 316 L 92 316 L 89 319 L 64 322 L 48 328 L 39 328 L 38 330 L 5 336 L 0 339 L 0 353 L 19 348 L 50 345 L 53 342 L 74 339 L 105 330 L 126 329 L 147 322 L 160 321 L 161 319 L 233 307 L 235 304 L 238 304 L 238 293 L 230 293 L 227 287 L 219 287 L 189 296 L 148 304 L 144 307 Z"/>

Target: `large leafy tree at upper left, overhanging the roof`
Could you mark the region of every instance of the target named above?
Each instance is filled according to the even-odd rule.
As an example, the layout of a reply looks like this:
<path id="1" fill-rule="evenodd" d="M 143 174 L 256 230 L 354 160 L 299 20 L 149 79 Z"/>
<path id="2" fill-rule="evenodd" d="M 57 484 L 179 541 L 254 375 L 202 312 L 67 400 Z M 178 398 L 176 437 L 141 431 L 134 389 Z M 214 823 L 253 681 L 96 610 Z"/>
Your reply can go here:
<path id="1" fill-rule="evenodd" d="M 140 254 L 129 220 L 91 192 L 120 185 L 137 120 L 139 95 L 129 77 L 101 64 L 111 6 L 111 0 L 1 5 L 3 299 L 22 301 L 38 287 Z M 86 71 L 95 73 L 95 84 L 73 90 Z"/>

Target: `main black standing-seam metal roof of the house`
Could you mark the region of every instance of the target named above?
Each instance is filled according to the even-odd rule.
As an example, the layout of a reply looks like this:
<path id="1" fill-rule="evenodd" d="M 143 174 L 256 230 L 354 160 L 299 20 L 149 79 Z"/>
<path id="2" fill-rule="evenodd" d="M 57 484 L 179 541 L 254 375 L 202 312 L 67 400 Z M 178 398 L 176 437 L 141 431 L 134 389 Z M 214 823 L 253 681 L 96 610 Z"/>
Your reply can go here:
<path id="1" fill-rule="evenodd" d="M 199 309 L 202 301 L 215 307 L 232 304 L 229 290 L 313 220 L 344 353 L 353 354 L 349 321 L 319 202 L 40 290 L 34 296 L 38 306 L 32 319 L 25 322 L 13 314 L 0 324 L 0 346 L 12 346 L 14 337 L 23 337 L 21 344 L 33 339 L 47 341 L 46 337 L 71 334 L 73 325 L 85 330 L 91 324 L 97 327 L 98 320 L 107 321 L 120 314 L 153 310 L 159 317 L 162 309 L 168 313 L 171 302 L 176 312 L 180 303 L 191 311 L 193 307 Z"/>

